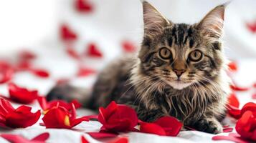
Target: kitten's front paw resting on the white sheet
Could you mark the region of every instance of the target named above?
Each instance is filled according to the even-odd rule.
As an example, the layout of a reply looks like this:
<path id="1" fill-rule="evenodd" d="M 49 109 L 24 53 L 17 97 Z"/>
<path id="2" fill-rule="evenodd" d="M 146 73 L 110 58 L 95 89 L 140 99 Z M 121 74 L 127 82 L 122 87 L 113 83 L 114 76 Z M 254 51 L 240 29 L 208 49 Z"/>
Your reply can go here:
<path id="1" fill-rule="evenodd" d="M 208 118 L 208 119 L 200 119 L 194 127 L 202 132 L 207 132 L 211 134 L 219 134 L 222 133 L 222 124 L 220 124 L 217 119 Z"/>

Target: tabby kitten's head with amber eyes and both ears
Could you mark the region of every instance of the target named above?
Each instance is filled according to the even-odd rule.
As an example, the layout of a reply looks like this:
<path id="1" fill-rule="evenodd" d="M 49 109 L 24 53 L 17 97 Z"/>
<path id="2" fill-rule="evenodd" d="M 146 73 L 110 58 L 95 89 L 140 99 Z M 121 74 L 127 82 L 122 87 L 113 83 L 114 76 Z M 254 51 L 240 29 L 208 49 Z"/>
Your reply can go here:
<path id="1" fill-rule="evenodd" d="M 144 38 L 138 57 L 141 70 L 174 89 L 209 82 L 223 68 L 224 5 L 196 24 L 174 24 L 143 1 Z"/>

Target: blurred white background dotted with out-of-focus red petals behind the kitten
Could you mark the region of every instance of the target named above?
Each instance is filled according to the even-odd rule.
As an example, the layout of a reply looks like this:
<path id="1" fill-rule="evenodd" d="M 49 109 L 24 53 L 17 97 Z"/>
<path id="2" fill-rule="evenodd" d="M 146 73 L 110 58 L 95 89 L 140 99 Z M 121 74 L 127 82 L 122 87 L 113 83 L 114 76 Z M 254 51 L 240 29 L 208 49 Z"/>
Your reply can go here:
<path id="1" fill-rule="evenodd" d="M 148 1 L 171 21 L 189 24 L 227 2 Z M 234 81 L 243 85 L 256 80 L 255 7 L 255 0 L 234 0 L 225 13 L 224 50 L 242 61 Z M 110 60 L 138 51 L 142 37 L 140 0 L 0 0 L 0 94 L 10 81 L 42 94 L 63 81 L 91 87 Z"/>

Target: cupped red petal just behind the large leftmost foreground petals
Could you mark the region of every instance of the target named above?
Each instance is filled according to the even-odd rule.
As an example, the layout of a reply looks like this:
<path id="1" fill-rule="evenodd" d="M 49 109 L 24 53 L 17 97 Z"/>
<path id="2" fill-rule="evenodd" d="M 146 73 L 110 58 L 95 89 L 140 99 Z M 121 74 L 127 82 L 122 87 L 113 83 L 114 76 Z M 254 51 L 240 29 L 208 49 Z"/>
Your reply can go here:
<path id="1" fill-rule="evenodd" d="M 8 85 L 10 99 L 21 104 L 31 104 L 39 97 L 37 90 L 29 91 L 28 89 L 18 87 L 14 83 Z"/>

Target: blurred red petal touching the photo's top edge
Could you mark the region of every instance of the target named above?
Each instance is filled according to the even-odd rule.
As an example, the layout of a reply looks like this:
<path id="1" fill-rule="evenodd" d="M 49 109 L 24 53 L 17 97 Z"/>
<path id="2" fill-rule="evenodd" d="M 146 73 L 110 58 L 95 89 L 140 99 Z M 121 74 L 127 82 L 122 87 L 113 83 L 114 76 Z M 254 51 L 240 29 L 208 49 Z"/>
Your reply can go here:
<path id="1" fill-rule="evenodd" d="M 88 13 L 93 11 L 93 5 L 88 2 L 88 0 L 76 0 L 75 8 L 77 11 Z"/>

